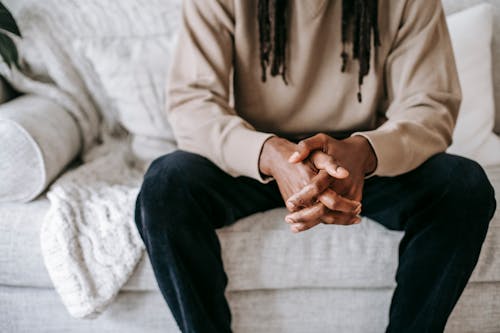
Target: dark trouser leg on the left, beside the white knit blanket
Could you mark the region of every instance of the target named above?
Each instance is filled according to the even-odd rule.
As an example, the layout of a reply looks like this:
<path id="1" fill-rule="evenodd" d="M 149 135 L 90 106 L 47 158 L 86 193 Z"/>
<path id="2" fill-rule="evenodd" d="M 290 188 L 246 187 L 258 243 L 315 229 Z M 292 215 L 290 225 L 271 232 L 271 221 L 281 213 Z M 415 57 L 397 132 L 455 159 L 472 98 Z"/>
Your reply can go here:
<path id="1" fill-rule="evenodd" d="M 227 277 L 215 229 L 281 205 L 275 183 L 233 178 L 195 154 L 178 151 L 152 163 L 135 220 L 183 332 L 230 332 Z"/>

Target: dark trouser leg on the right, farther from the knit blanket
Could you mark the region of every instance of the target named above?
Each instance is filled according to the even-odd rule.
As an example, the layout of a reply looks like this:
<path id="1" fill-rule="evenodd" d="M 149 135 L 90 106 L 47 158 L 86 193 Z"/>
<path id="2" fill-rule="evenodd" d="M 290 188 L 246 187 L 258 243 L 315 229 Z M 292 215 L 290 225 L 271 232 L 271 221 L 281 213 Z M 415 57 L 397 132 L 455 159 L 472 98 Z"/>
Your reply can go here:
<path id="1" fill-rule="evenodd" d="M 362 214 L 404 230 L 387 332 L 442 332 L 477 263 L 496 202 L 483 169 L 448 154 L 365 183 Z"/>

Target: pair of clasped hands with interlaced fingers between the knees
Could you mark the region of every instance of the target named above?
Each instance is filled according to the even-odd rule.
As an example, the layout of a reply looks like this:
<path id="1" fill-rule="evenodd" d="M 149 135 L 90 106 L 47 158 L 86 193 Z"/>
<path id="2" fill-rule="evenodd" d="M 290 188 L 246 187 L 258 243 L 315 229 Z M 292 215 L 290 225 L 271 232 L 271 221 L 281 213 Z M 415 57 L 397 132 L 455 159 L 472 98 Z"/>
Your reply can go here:
<path id="1" fill-rule="evenodd" d="M 376 163 L 371 145 L 362 136 L 336 140 L 317 134 L 298 144 L 271 137 L 264 144 L 259 167 L 276 180 L 290 211 L 285 220 L 291 230 L 301 232 L 319 223 L 359 223 L 364 178 Z"/>

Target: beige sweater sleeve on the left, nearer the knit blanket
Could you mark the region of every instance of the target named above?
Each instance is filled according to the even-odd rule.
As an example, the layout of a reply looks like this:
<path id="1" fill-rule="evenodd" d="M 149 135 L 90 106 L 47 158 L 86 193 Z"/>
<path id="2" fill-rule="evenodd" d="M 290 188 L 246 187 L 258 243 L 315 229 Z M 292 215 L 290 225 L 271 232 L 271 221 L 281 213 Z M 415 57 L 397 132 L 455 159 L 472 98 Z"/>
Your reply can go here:
<path id="1" fill-rule="evenodd" d="M 272 134 L 257 132 L 230 106 L 233 52 L 232 0 L 184 0 L 168 79 L 168 117 L 180 149 L 234 177 L 265 182 L 259 157 Z"/>

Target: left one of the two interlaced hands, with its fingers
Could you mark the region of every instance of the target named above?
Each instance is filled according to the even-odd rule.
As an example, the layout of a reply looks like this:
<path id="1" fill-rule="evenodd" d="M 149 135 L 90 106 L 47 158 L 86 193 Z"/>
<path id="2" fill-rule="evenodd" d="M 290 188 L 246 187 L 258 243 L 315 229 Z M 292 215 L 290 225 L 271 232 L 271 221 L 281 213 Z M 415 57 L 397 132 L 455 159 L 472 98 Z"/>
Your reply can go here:
<path id="1" fill-rule="evenodd" d="M 297 145 L 279 137 L 271 137 L 262 148 L 259 159 L 259 169 L 262 174 L 273 177 L 280 189 L 283 200 L 287 203 L 289 211 L 293 212 L 305 207 L 311 207 L 314 213 L 321 216 L 324 221 L 335 220 L 339 224 L 350 224 L 352 213 L 355 213 L 359 204 L 355 201 L 342 198 L 340 196 L 332 197 L 331 200 L 342 200 L 346 212 L 331 211 L 321 202 L 303 202 L 299 205 L 291 206 L 287 201 L 293 194 L 298 193 L 305 186 L 314 186 L 320 193 L 328 189 L 334 178 L 326 171 L 318 171 L 314 165 L 305 160 L 301 163 L 291 164 L 288 162 L 290 156 L 297 151 Z M 348 173 L 339 174 L 338 178 L 348 177 Z M 325 193 L 327 195 L 328 192 Z M 345 221 L 344 221 L 345 220 Z M 291 224 L 293 232 L 299 232 L 293 221 L 287 221 Z"/>

